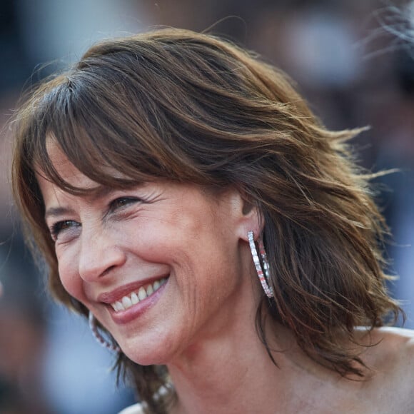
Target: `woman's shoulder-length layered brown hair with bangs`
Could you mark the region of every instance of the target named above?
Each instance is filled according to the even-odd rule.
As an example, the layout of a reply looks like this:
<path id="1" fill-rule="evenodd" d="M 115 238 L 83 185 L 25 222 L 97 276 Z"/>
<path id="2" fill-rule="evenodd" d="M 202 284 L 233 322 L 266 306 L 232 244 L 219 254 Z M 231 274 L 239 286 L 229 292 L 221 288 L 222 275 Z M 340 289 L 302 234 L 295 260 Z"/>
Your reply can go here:
<path id="1" fill-rule="evenodd" d="M 263 297 L 256 320 L 266 348 L 263 319 L 271 315 L 313 360 L 363 375 L 363 361 L 343 339 L 353 340 L 356 325 L 396 318 L 400 308 L 385 291 L 378 248 L 385 224 L 370 177 L 346 143 L 357 132 L 328 131 L 281 71 L 227 41 L 153 31 L 93 46 L 31 94 L 16 117 L 15 196 L 49 265 L 51 291 L 86 313 L 61 286 L 44 223 L 35 168 L 66 191 L 81 191 L 54 170 L 48 134 L 79 171 L 104 185 L 166 178 L 238 188 L 265 222 L 275 297 Z M 131 368 L 140 398 L 161 412 L 153 394 L 165 370 L 122 354 L 118 366 Z"/>

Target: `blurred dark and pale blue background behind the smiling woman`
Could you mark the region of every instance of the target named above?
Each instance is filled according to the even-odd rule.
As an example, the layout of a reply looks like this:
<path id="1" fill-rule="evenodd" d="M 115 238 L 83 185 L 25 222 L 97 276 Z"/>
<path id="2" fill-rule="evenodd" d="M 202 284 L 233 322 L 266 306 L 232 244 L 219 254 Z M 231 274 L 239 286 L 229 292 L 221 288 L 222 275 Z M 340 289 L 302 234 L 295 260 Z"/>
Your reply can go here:
<path id="1" fill-rule="evenodd" d="M 400 168 L 378 182 L 393 230 L 390 291 L 414 328 L 414 2 L 379 0 L 1 0 L 0 413 L 113 414 L 132 403 L 115 387 L 113 356 L 83 320 L 56 306 L 19 233 L 9 190 L 6 122 L 26 86 L 79 59 L 94 41 L 167 25 L 257 51 L 297 82 L 329 128 L 370 126 L 361 165 Z"/>

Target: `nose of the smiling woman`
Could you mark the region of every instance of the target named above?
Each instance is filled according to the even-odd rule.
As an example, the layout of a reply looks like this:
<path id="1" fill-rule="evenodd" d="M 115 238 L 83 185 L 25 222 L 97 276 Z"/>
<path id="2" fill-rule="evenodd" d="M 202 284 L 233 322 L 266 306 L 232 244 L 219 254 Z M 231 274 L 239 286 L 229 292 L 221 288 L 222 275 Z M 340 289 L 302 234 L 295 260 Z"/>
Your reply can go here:
<path id="1" fill-rule="evenodd" d="M 106 229 L 82 228 L 79 252 L 79 276 L 84 281 L 101 280 L 125 263 L 126 254 L 117 243 L 115 235 Z"/>

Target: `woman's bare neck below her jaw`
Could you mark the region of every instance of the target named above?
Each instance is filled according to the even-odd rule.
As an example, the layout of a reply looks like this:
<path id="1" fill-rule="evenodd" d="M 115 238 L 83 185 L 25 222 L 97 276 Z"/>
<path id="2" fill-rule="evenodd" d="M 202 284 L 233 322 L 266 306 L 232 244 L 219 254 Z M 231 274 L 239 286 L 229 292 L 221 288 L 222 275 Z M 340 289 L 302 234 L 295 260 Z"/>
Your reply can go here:
<path id="1" fill-rule="evenodd" d="M 302 372 L 287 354 L 294 342 L 290 333 L 276 328 L 276 366 L 258 338 L 254 315 L 238 320 L 249 323 L 226 325 L 221 335 L 194 343 L 168 365 L 178 395 L 173 413 L 266 413 L 289 399 Z"/>

